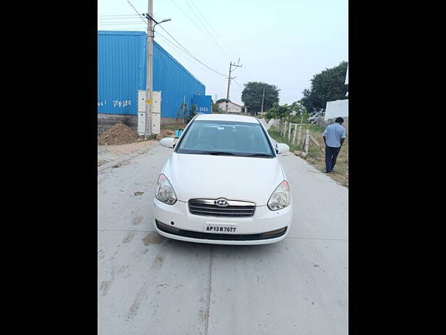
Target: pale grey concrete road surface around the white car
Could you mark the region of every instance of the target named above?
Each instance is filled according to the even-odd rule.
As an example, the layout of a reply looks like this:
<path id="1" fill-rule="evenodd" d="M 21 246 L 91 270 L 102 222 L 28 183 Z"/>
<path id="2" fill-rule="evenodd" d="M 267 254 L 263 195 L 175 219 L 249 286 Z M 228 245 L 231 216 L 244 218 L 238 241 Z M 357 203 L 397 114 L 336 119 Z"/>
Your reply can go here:
<path id="1" fill-rule="evenodd" d="M 348 334 L 348 189 L 282 154 L 295 201 L 284 241 L 164 239 L 152 199 L 170 153 L 98 172 L 98 334 Z"/>

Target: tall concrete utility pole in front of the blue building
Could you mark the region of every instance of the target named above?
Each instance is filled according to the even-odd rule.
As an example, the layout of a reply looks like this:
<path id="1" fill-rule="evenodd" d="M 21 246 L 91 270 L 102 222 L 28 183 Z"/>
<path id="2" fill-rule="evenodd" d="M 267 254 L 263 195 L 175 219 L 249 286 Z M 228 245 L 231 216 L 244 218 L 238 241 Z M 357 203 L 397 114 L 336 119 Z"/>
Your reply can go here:
<path id="1" fill-rule="evenodd" d="M 153 64 L 153 1 L 148 0 L 147 8 L 147 75 L 146 75 L 146 100 L 152 101 L 152 64 Z M 152 134 L 152 103 L 146 103 L 146 136 Z"/>

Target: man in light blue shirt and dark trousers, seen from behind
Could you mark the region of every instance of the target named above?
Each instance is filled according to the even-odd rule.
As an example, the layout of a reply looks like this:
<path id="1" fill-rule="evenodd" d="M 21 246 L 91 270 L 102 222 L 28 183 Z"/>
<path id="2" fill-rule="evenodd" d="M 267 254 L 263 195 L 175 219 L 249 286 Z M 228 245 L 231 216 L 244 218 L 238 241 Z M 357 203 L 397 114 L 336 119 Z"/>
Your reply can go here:
<path id="1" fill-rule="evenodd" d="M 330 124 L 322 133 L 325 142 L 325 173 L 333 171 L 337 155 L 346 140 L 346 128 L 341 126 L 343 123 L 344 119 L 337 117 L 334 124 Z"/>

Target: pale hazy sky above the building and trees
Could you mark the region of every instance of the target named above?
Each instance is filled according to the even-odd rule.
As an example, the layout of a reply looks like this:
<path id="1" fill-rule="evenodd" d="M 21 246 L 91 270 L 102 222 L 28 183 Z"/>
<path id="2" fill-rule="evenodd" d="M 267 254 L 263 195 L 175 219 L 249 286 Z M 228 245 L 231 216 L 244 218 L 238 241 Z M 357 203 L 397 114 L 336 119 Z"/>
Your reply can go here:
<path id="1" fill-rule="evenodd" d="M 129 1 L 147 13 L 147 0 L 98 0 L 98 30 L 146 31 Z M 229 99 L 241 103 L 243 84 L 256 81 L 275 84 L 280 104 L 298 101 L 314 75 L 348 61 L 348 0 L 153 0 L 153 17 L 171 19 L 156 26 L 155 41 L 213 99 L 226 98 L 229 63 L 238 59 Z"/>

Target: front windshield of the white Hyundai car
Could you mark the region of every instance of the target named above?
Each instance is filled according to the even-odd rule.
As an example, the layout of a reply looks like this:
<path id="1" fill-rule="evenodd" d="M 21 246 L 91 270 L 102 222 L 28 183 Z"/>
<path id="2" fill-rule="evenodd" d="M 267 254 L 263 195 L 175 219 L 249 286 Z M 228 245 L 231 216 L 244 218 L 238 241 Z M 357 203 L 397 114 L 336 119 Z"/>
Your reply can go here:
<path id="1" fill-rule="evenodd" d="M 184 133 L 178 154 L 275 157 L 259 123 L 195 120 Z"/>

